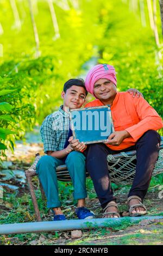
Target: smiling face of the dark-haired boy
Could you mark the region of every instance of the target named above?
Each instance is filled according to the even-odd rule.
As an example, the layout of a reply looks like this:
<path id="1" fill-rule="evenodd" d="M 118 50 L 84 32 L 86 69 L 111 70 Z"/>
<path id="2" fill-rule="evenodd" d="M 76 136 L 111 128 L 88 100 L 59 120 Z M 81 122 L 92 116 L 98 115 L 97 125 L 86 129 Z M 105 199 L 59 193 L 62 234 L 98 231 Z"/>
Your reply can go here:
<path id="1" fill-rule="evenodd" d="M 61 93 L 62 99 L 64 99 L 64 111 L 65 107 L 70 109 L 76 109 L 82 107 L 85 102 L 86 92 L 83 87 L 71 86 L 65 92 Z"/>

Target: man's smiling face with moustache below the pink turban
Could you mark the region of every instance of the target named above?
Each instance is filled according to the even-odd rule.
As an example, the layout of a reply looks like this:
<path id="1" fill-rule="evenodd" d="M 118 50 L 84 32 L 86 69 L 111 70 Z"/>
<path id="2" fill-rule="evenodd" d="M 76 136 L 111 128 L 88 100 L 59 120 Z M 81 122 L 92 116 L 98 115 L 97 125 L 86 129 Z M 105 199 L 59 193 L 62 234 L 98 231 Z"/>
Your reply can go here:
<path id="1" fill-rule="evenodd" d="M 117 89 L 114 83 L 106 78 L 101 78 L 94 85 L 94 94 L 103 103 L 115 99 Z"/>

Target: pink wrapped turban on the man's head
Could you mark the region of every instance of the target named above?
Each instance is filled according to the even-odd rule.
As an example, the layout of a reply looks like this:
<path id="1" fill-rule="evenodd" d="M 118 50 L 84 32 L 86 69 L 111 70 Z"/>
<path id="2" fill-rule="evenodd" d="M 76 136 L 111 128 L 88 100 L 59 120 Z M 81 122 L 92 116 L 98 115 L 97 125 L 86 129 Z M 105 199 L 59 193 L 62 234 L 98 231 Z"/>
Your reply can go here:
<path id="1" fill-rule="evenodd" d="M 99 64 L 93 66 L 93 68 L 88 72 L 85 80 L 86 90 L 93 96 L 94 85 L 97 80 L 101 78 L 106 78 L 117 86 L 117 78 L 114 66 L 108 64 Z"/>

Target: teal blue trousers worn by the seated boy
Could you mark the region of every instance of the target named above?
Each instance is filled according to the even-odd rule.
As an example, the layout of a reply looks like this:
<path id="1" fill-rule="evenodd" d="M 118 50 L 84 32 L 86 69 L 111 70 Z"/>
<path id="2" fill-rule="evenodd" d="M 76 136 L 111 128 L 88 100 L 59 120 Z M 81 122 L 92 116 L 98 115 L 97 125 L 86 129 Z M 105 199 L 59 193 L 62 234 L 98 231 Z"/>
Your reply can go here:
<path id="1" fill-rule="evenodd" d="M 68 154 L 66 161 L 62 161 L 53 156 L 42 156 L 36 166 L 36 173 L 39 175 L 43 190 L 47 198 L 47 208 L 57 208 L 61 206 L 58 194 L 56 167 L 66 164 L 70 173 L 74 193 L 74 199 L 87 197 L 86 193 L 86 169 L 85 156 L 77 151 Z"/>

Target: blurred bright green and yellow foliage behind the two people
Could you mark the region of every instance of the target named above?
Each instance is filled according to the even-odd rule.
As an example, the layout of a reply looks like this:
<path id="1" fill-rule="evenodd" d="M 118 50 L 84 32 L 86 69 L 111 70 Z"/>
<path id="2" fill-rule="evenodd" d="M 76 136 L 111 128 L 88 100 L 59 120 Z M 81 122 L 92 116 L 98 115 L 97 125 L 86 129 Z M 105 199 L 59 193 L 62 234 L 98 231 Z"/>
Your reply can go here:
<path id="1" fill-rule="evenodd" d="M 97 57 L 98 63 L 114 65 L 118 89 L 139 89 L 162 115 L 162 70 L 158 72 L 162 60 L 156 63 L 160 49 L 149 26 L 146 5 L 147 26 L 142 27 L 140 10 L 130 11 L 129 1 L 80 0 L 79 8 L 68 1 L 69 10 L 54 3 L 60 29 L 60 38 L 54 40 L 47 1 L 38 0 L 33 10 L 41 55 L 36 58 L 28 1 L 15 2 L 21 29 L 14 21 L 10 1 L 0 2 L 4 31 L 0 35 L 0 149 L 13 148 L 15 138 L 41 124 L 46 115 L 61 105 L 63 84 L 69 78 L 79 77 L 91 57 Z M 157 17 L 161 39 L 159 6 Z"/>

